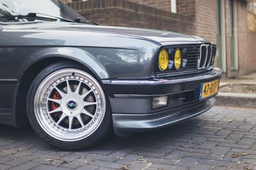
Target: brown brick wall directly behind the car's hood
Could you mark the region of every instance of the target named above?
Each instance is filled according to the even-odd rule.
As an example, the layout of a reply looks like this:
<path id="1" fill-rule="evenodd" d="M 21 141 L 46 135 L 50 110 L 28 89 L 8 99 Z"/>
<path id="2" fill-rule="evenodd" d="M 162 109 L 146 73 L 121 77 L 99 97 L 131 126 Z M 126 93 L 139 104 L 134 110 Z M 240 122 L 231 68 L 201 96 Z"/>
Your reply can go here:
<path id="1" fill-rule="evenodd" d="M 72 8 L 83 13 L 84 17 L 99 22 L 99 24 L 178 31 L 186 34 L 195 34 L 216 43 L 215 0 L 177 0 L 177 14 L 170 13 L 170 0 L 72 1 L 74 2 L 71 3 Z M 113 12 L 109 11 L 108 14 L 108 11 L 106 11 L 106 4 L 108 8 L 115 8 L 115 11 L 122 8 L 124 14 L 119 11 L 117 13 L 118 18 L 115 15 L 112 16 L 116 21 L 113 19 L 105 20 L 102 13 L 107 18 L 108 15 L 113 15 Z M 105 9 L 103 10 L 102 8 Z M 95 10 L 100 10 L 100 13 L 95 13 Z M 135 13 L 131 13 L 131 10 Z M 129 15 L 131 15 L 132 19 Z M 102 16 L 102 18 L 97 16 Z M 211 19 L 209 20 L 209 18 Z"/>

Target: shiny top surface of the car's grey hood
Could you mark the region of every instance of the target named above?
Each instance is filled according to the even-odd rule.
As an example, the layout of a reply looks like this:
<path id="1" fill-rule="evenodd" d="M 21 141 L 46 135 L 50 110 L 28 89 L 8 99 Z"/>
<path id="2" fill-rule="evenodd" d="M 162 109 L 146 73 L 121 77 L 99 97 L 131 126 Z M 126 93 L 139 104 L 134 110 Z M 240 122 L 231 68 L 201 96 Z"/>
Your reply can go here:
<path id="1" fill-rule="evenodd" d="M 206 41 L 196 36 L 188 36 L 169 31 L 157 31 L 152 29 L 138 29 L 131 27 L 112 27 L 101 25 L 88 25 L 67 22 L 36 22 L 36 23 L 20 23 L 4 26 L 4 29 L 37 29 L 37 30 L 57 30 L 57 31 L 83 31 L 83 32 L 101 32 L 108 34 L 122 34 L 127 36 L 135 36 L 155 41 L 161 45 L 170 42 L 179 43 L 205 43 Z"/>

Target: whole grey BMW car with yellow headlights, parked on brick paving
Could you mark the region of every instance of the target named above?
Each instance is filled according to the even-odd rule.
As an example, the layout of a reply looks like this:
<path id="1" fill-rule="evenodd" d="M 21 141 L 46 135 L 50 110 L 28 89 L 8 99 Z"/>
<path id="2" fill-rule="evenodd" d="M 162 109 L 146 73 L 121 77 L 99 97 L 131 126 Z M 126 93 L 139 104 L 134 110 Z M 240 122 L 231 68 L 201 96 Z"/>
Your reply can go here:
<path id="1" fill-rule="evenodd" d="M 0 0 L 0 123 L 47 143 L 91 146 L 212 108 L 216 45 L 174 32 L 100 26 L 59 0 Z"/>

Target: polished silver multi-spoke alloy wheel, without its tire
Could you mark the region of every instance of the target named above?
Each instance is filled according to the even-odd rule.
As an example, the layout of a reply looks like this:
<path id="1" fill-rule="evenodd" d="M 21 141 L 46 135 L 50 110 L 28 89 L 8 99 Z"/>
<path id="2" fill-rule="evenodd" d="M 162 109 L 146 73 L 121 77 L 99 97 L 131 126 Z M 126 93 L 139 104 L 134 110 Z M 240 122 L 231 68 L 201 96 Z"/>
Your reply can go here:
<path id="1" fill-rule="evenodd" d="M 36 90 L 35 116 L 42 129 L 60 141 L 81 141 L 99 129 L 106 99 L 93 76 L 78 69 L 61 69 Z"/>

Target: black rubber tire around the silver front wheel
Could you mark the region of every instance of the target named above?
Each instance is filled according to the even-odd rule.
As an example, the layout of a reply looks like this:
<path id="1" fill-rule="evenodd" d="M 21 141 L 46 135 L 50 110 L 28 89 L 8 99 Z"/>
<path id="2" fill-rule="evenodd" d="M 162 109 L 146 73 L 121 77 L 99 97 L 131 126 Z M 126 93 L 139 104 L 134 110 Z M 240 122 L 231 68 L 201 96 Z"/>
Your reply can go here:
<path id="1" fill-rule="evenodd" d="M 74 64 L 73 62 L 55 63 L 55 64 L 51 64 L 50 66 L 45 67 L 45 69 L 43 71 L 41 71 L 36 76 L 35 80 L 31 84 L 31 87 L 29 88 L 29 91 L 28 91 L 27 105 L 26 105 L 27 107 L 26 108 L 27 108 L 29 123 L 33 127 L 36 134 L 38 134 L 42 139 L 44 139 L 44 141 L 46 141 L 50 145 L 56 146 L 58 148 L 63 148 L 63 149 L 67 149 L 67 150 L 70 150 L 70 149 L 76 150 L 76 149 L 86 148 L 88 146 L 95 145 L 96 143 L 98 143 L 100 141 L 100 139 L 103 139 L 108 134 L 108 132 L 112 126 L 112 118 L 111 118 L 111 112 L 110 112 L 109 101 L 108 101 L 108 96 L 107 96 L 108 94 L 106 93 L 106 90 L 104 90 L 102 83 L 95 76 L 93 76 L 92 73 L 88 73 L 88 74 L 93 76 L 93 78 L 95 78 L 95 80 L 98 81 L 100 87 L 104 91 L 104 95 L 106 98 L 106 113 L 104 115 L 104 118 L 103 118 L 102 123 L 100 124 L 99 128 L 95 132 L 93 132 L 93 134 L 91 136 L 88 136 L 87 138 L 84 138 L 80 141 L 73 141 L 73 142 L 60 141 L 58 139 L 54 139 L 51 136 L 49 136 L 49 134 L 47 134 L 42 129 L 42 127 L 40 126 L 40 124 L 38 123 L 38 121 L 36 119 L 36 115 L 35 115 L 36 113 L 34 110 L 34 100 L 35 100 L 36 91 L 37 91 L 38 87 L 40 86 L 40 83 L 42 83 L 42 81 L 45 78 L 47 78 L 47 76 L 49 76 L 49 74 L 52 74 L 55 71 L 58 71 L 60 69 L 79 69 L 86 73 L 89 72 L 83 66 L 81 66 L 79 64 Z"/>

